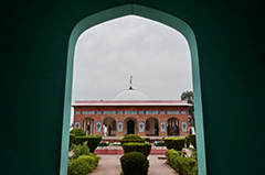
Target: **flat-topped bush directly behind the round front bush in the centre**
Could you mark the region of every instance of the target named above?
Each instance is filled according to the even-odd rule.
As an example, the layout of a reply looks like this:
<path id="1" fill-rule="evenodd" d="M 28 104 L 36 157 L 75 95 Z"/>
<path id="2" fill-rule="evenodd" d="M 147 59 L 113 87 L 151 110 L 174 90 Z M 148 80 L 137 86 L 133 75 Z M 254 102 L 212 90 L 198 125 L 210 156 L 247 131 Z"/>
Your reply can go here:
<path id="1" fill-rule="evenodd" d="M 140 152 L 148 156 L 151 151 L 151 144 L 150 143 L 137 143 L 137 142 L 129 142 L 129 143 L 124 143 L 123 149 L 125 153 L 129 152 Z"/>

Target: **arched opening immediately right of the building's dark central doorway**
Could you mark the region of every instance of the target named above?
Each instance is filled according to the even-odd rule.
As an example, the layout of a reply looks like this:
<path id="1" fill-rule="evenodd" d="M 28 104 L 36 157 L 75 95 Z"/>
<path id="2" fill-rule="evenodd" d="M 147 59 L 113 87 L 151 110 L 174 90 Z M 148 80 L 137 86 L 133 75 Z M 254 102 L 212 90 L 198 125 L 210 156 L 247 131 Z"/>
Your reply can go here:
<path id="1" fill-rule="evenodd" d="M 158 136 L 159 135 L 158 119 L 148 118 L 146 120 L 146 135 L 147 136 Z"/>

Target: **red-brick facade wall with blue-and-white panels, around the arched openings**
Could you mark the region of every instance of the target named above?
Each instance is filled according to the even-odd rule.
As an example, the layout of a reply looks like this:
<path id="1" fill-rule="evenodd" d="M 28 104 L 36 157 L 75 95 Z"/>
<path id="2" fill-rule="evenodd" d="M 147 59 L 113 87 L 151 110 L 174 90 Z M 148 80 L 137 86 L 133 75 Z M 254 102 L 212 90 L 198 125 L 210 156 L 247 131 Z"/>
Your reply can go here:
<path id="1" fill-rule="evenodd" d="M 78 113 L 76 113 L 76 111 Z M 84 111 L 91 111 L 94 112 L 94 114 L 87 114 L 83 113 Z M 115 113 L 104 113 L 104 111 L 115 111 Z M 119 114 L 118 111 L 123 111 L 123 114 Z M 125 111 L 136 111 L 135 114 L 126 114 Z M 140 114 L 139 111 L 144 111 L 144 114 Z M 158 111 L 158 114 L 147 114 L 146 111 Z M 160 113 L 160 111 L 165 111 L 163 114 Z M 168 111 L 179 111 L 179 114 L 168 114 Z M 186 111 L 186 114 L 182 114 L 181 111 Z M 100 112 L 100 113 L 97 113 Z M 160 129 L 160 122 L 166 122 L 166 128 L 168 125 L 168 119 L 170 118 L 177 118 L 179 120 L 179 134 L 180 136 L 187 136 L 189 134 L 189 130 L 187 129 L 187 132 L 182 132 L 182 121 L 186 121 L 189 123 L 188 120 L 188 107 L 187 106 L 74 106 L 74 123 L 77 121 L 82 125 L 84 125 L 84 119 L 92 118 L 94 119 L 94 124 L 96 125 L 96 122 L 102 122 L 102 129 L 100 131 L 96 131 L 96 127 L 94 128 L 95 135 L 103 135 L 103 123 L 106 121 L 106 119 L 113 119 L 116 120 L 116 125 L 118 121 L 123 121 L 123 132 L 116 132 L 116 136 L 124 136 L 127 134 L 127 121 L 129 119 L 132 119 L 135 121 L 135 133 L 139 134 L 140 136 L 146 136 L 146 129 L 144 132 L 139 132 L 139 122 L 144 121 L 146 123 L 147 119 L 156 118 L 159 123 L 159 136 L 167 136 L 168 130 L 161 132 Z M 152 133 L 155 133 L 155 121 L 150 120 L 150 127 Z M 106 121 L 106 123 L 109 123 L 109 121 Z M 116 127 L 117 128 L 117 127 Z M 146 124 L 145 124 L 146 128 Z"/>

